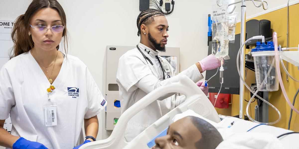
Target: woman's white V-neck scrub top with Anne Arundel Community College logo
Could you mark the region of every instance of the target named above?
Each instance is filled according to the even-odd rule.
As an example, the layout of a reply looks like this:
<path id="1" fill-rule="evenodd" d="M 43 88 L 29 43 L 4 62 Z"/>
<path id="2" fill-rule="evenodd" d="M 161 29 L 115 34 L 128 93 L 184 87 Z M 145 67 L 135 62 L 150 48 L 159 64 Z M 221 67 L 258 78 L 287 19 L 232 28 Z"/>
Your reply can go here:
<path id="1" fill-rule="evenodd" d="M 10 114 L 11 134 L 42 143 L 49 149 L 69 149 L 83 143 L 84 119 L 99 114 L 107 102 L 86 65 L 67 55 L 56 88 L 49 94 L 57 103 L 56 126 L 45 126 L 43 105 L 50 83 L 30 52 L 9 60 L 0 70 L 0 119 Z"/>

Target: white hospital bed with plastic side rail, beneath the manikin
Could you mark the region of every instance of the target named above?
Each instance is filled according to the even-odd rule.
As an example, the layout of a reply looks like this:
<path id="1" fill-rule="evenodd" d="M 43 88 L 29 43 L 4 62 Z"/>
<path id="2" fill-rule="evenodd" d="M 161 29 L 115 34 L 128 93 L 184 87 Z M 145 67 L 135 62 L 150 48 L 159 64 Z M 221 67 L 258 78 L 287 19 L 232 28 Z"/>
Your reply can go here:
<path id="1" fill-rule="evenodd" d="M 153 101 L 165 99 L 175 93 L 184 94 L 186 96 L 186 101 L 158 119 L 131 142 L 126 142 L 124 135 L 126 124 L 129 119 L 131 119 L 135 114 L 137 114 Z M 120 116 L 117 125 L 112 131 L 112 134 L 107 139 L 84 144 L 80 147 L 80 149 L 148 149 L 149 146 L 154 144 L 154 138 L 161 132 L 165 132 L 165 129 L 167 129 L 168 126 L 173 123 L 173 117 L 176 114 L 181 114 L 184 111 L 187 111 L 188 109 L 193 110 L 196 114 L 199 114 L 206 119 L 219 124 L 221 123 L 225 126 L 228 126 L 232 121 L 234 121 L 235 123 L 231 129 L 236 131 L 246 132 L 248 129 L 258 124 L 234 117 L 226 117 L 221 121 L 212 103 L 199 89 L 199 87 L 196 86 L 196 84 L 188 77 L 179 76 L 177 82 L 165 83 L 163 86 L 147 94 L 137 103 L 128 108 Z M 289 130 L 283 128 L 276 128 L 267 125 L 256 127 L 252 131 L 270 132 L 276 136 L 290 132 Z M 298 139 L 298 134 L 292 134 L 292 136 L 284 136 L 281 138 L 281 141 L 286 148 L 297 148 L 298 145 L 295 145 L 295 140 Z"/>

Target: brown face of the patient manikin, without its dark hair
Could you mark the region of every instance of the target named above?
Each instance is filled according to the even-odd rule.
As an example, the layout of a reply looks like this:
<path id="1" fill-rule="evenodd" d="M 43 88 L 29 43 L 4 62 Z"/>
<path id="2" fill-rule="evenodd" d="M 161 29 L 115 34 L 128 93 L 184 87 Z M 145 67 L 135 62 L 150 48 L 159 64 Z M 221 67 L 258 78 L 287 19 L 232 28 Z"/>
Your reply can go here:
<path id="1" fill-rule="evenodd" d="M 153 149 L 196 149 L 195 143 L 202 138 L 202 134 L 188 117 L 179 119 L 169 125 L 167 135 L 155 139 Z"/>

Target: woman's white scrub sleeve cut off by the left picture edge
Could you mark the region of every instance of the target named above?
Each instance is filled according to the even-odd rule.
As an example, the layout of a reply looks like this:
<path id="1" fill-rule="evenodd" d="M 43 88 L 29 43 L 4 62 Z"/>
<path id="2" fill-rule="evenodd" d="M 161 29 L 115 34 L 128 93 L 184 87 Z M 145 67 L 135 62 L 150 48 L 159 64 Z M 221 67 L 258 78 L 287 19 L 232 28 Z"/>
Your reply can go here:
<path id="1" fill-rule="evenodd" d="M 7 119 L 16 100 L 13 93 L 13 86 L 7 69 L 2 67 L 0 70 L 0 119 Z"/>

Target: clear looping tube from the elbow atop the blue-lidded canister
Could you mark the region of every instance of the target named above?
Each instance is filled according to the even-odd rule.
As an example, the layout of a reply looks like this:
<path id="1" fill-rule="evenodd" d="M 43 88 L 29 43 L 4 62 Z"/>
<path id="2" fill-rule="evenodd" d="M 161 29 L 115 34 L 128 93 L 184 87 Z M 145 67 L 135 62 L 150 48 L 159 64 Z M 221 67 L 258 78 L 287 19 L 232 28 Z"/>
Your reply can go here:
<path id="1" fill-rule="evenodd" d="M 242 44 L 242 45 L 240 46 L 240 49 L 239 49 L 238 54 L 237 54 L 237 70 L 238 70 L 239 76 L 240 76 L 242 82 L 244 83 L 244 85 L 247 87 L 247 89 L 248 89 L 251 93 L 253 93 L 253 94 L 255 94 L 255 92 L 252 91 L 252 89 L 250 89 L 250 87 L 245 83 L 243 77 L 241 77 L 240 67 L 239 67 L 239 57 L 241 57 L 241 55 L 240 55 L 241 49 L 243 48 L 243 46 L 244 46 L 248 41 L 251 41 L 252 39 L 261 39 L 261 38 L 262 38 L 262 41 L 265 40 L 265 37 L 264 37 L 264 36 L 254 36 L 254 37 L 252 37 L 252 38 L 249 38 L 248 40 L 246 40 L 246 41 L 244 42 L 244 44 Z M 241 62 L 241 63 L 243 63 L 243 62 Z M 266 77 L 265 77 L 265 78 L 266 78 Z M 258 91 L 258 90 L 257 90 L 257 91 Z M 250 115 L 248 114 L 248 111 L 246 110 L 246 114 L 247 114 L 248 118 L 249 118 L 250 120 L 254 121 L 254 122 L 261 123 L 261 124 L 266 124 L 266 125 L 272 125 L 272 124 L 277 123 L 277 122 L 281 119 L 280 111 L 279 111 L 274 105 L 272 105 L 272 104 L 269 103 L 268 101 L 264 100 L 264 99 L 263 99 L 262 97 L 260 97 L 259 95 L 255 94 L 255 95 L 252 96 L 252 97 L 255 97 L 255 96 L 258 97 L 260 100 L 263 100 L 263 102 L 265 102 L 266 104 L 270 105 L 272 108 L 274 108 L 274 110 L 275 110 L 275 111 L 277 112 L 277 114 L 279 115 L 279 118 L 278 118 L 276 121 L 274 121 L 274 122 L 269 122 L 269 123 L 258 122 L 258 121 L 256 121 L 256 120 L 252 119 L 252 118 L 250 117 Z M 251 100 L 248 102 L 248 104 L 250 104 L 250 102 L 252 101 L 252 99 L 253 99 L 253 98 L 251 98 Z"/>

